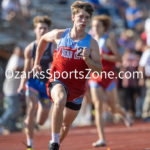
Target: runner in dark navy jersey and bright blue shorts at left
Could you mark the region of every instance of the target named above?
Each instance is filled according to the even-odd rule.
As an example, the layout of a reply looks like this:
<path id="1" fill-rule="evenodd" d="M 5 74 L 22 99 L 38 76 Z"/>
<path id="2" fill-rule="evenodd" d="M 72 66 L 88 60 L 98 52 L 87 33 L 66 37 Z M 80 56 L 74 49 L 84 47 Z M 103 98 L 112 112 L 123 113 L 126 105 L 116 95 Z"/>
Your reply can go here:
<path id="1" fill-rule="evenodd" d="M 37 44 L 39 43 L 42 35 L 49 31 L 51 26 L 51 20 L 48 16 L 37 16 L 33 19 L 34 31 L 36 34 L 36 40 L 30 43 L 25 49 L 25 66 L 24 72 L 28 77 L 28 73 L 33 67 L 33 61 L 35 59 Z M 50 63 L 52 62 L 52 43 L 48 43 L 47 47 L 44 49 L 44 55 L 40 61 L 42 68 L 42 74 L 37 77 L 22 78 L 18 93 L 24 90 L 26 84 L 26 103 L 27 103 L 27 113 L 25 118 L 25 134 L 27 138 L 27 150 L 33 150 L 33 131 L 34 131 L 34 115 L 36 112 L 36 106 L 38 104 L 37 118 L 36 122 L 43 125 L 48 117 L 51 102 L 49 101 L 46 82 L 48 78 L 48 73 L 46 69 L 49 69 Z"/>

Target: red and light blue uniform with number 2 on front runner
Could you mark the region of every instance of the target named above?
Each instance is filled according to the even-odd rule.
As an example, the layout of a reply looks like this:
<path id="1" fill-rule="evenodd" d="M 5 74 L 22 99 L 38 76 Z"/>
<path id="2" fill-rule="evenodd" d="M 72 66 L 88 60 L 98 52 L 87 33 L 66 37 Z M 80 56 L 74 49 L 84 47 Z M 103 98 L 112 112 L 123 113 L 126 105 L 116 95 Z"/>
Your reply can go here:
<path id="1" fill-rule="evenodd" d="M 86 70 L 88 66 L 80 54 L 83 51 L 83 47 L 87 47 L 90 50 L 91 36 L 87 34 L 84 39 L 73 41 L 70 37 L 70 31 L 70 28 L 65 30 L 55 50 L 51 66 L 52 79 L 49 82 L 55 80 L 55 74 L 58 77 L 57 79 L 67 87 L 67 100 L 73 101 L 83 95 L 85 91 L 85 76 L 88 72 Z M 60 77 L 58 74 L 56 75 L 56 72 L 59 72 Z"/>

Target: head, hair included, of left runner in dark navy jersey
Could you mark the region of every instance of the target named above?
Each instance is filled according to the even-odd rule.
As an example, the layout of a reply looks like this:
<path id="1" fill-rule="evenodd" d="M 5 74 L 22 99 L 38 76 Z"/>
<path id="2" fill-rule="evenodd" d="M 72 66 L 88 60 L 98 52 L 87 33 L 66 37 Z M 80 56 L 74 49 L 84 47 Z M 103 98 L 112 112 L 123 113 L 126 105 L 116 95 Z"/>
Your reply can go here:
<path id="1" fill-rule="evenodd" d="M 48 16 L 36 16 L 33 19 L 34 31 L 36 37 L 39 39 L 42 35 L 49 31 L 51 26 L 51 19 Z"/>

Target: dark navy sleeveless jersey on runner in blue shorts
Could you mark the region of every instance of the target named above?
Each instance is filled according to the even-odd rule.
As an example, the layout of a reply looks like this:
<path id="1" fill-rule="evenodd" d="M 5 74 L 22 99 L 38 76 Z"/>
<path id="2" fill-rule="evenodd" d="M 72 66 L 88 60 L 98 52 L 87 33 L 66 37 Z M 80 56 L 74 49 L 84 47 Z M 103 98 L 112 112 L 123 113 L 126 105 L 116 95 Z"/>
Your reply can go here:
<path id="1" fill-rule="evenodd" d="M 37 48 L 37 44 L 36 42 L 34 42 L 34 45 L 33 45 L 33 50 L 32 50 L 32 58 L 33 60 L 35 60 L 35 56 L 36 56 L 36 48 Z M 45 77 L 43 78 L 42 75 L 39 76 L 39 80 L 43 81 L 43 82 L 47 82 L 48 81 L 48 77 L 49 77 L 49 74 L 46 72 L 47 69 L 49 69 L 49 64 L 53 61 L 53 54 L 52 54 L 52 43 L 48 43 L 45 51 L 44 51 L 44 54 L 41 58 L 41 61 L 40 61 L 40 65 L 41 65 L 41 68 L 42 68 L 42 75 Z"/>

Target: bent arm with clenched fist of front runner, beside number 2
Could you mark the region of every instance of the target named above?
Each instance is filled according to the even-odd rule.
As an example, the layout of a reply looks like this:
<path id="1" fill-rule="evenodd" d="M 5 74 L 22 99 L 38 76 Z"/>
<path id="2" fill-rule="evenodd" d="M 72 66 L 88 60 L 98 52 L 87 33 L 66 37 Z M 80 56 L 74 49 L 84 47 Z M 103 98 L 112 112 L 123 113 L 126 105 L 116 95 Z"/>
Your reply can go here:
<path id="1" fill-rule="evenodd" d="M 92 71 L 102 71 L 102 64 L 100 61 L 99 47 L 93 38 L 91 38 L 90 51 L 83 50 L 83 59 L 87 66 L 92 69 Z"/>

